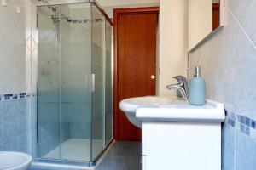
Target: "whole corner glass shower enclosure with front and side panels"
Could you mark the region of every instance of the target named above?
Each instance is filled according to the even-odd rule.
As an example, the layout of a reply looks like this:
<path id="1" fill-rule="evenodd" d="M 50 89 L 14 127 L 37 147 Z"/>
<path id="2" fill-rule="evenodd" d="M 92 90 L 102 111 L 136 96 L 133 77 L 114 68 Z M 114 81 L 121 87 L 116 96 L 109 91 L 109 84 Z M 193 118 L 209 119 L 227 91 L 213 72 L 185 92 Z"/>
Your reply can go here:
<path id="1" fill-rule="evenodd" d="M 92 163 L 113 139 L 113 25 L 91 1 L 37 11 L 38 158 Z"/>

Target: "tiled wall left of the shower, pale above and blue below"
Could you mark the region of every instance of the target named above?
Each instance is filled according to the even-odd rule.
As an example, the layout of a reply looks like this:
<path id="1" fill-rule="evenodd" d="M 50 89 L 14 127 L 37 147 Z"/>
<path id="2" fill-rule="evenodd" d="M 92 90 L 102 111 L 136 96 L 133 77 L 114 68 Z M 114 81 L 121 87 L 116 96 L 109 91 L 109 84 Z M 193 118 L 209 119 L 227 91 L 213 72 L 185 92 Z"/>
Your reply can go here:
<path id="1" fill-rule="evenodd" d="M 0 5 L 0 151 L 20 151 L 34 156 L 32 4 L 35 6 L 29 0 L 19 0 Z"/>

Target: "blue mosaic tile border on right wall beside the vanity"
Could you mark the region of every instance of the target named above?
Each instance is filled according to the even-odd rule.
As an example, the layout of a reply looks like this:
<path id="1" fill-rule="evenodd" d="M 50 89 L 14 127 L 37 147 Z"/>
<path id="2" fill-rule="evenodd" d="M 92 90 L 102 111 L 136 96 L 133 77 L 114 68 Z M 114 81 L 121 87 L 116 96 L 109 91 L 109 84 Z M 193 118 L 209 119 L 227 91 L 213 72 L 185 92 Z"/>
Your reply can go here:
<path id="1" fill-rule="evenodd" d="M 256 139 L 256 121 L 247 117 L 243 116 L 240 113 L 235 111 L 228 111 L 225 110 L 226 114 L 226 123 L 231 127 L 235 127 L 241 133 L 247 134 L 247 136 Z"/>

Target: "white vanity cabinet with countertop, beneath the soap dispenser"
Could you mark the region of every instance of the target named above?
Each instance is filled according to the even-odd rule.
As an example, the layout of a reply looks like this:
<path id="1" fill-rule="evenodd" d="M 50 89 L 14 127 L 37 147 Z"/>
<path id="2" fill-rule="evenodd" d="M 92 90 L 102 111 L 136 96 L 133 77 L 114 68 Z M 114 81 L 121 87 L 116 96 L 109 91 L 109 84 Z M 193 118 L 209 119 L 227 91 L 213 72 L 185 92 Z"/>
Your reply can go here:
<path id="1" fill-rule="evenodd" d="M 224 105 L 140 108 L 143 170 L 221 170 Z"/>

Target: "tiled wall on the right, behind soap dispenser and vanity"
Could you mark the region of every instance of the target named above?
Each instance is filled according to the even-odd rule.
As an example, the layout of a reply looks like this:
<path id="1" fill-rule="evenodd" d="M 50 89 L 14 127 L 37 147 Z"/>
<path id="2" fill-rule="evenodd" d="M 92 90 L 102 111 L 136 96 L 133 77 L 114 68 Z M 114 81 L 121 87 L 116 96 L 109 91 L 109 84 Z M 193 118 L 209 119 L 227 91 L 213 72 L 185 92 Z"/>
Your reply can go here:
<path id="1" fill-rule="evenodd" d="M 251 170 L 256 167 L 256 1 L 228 0 L 225 17 L 227 26 L 189 54 L 189 67 L 201 65 L 207 99 L 225 105 L 222 169 Z"/>

